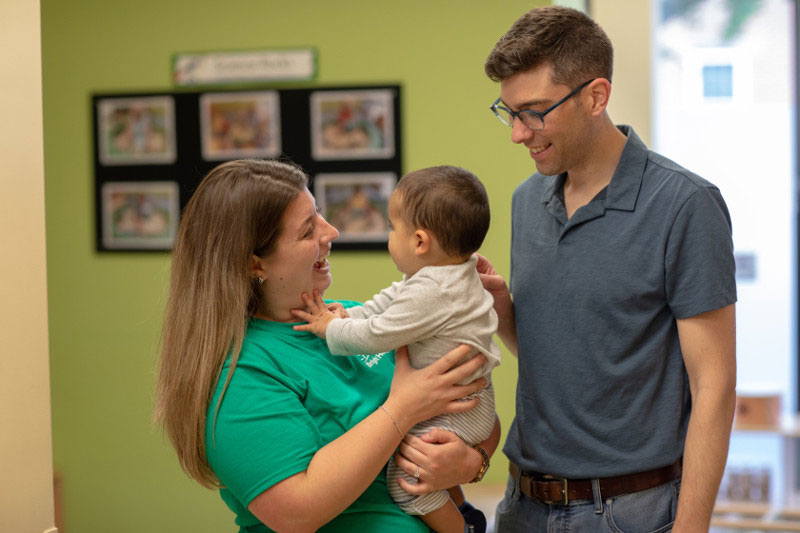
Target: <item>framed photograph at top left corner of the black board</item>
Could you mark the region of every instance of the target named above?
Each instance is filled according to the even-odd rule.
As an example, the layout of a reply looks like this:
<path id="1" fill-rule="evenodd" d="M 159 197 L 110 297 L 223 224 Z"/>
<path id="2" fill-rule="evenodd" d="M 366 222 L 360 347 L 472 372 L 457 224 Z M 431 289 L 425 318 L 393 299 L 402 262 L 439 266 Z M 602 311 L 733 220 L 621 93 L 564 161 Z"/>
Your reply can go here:
<path id="1" fill-rule="evenodd" d="M 172 97 L 103 98 L 97 103 L 97 120 L 103 165 L 175 162 Z"/>

